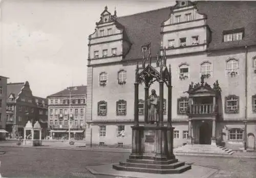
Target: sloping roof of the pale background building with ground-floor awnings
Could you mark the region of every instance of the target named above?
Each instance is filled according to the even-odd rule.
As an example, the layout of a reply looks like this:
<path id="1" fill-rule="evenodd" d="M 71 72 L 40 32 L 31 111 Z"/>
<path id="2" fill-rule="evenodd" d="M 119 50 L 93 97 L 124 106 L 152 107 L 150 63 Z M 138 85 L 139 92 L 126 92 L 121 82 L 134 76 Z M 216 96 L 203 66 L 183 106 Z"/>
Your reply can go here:
<path id="1" fill-rule="evenodd" d="M 70 94 L 70 90 L 71 89 L 71 95 L 81 95 L 81 94 L 86 94 L 87 92 L 87 86 L 76 86 L 76 87 L 68 87 L 64 90 L 61 90 L 57 93 L 51 94 L 47 97 L 51 97 L 51 96 L 65 96 L 65 95 L 69 95 Z"/>

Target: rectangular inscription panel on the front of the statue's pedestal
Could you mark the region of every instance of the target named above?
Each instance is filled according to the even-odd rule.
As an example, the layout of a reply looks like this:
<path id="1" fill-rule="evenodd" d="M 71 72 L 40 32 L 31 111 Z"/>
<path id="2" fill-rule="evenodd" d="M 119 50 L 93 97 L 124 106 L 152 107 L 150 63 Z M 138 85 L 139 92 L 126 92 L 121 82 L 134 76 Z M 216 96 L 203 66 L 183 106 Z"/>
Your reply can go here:
<path id="1" fill-rule="evenodd" d="M 155 131 L 144 131 L 144 151 L 155 152 Z"/>

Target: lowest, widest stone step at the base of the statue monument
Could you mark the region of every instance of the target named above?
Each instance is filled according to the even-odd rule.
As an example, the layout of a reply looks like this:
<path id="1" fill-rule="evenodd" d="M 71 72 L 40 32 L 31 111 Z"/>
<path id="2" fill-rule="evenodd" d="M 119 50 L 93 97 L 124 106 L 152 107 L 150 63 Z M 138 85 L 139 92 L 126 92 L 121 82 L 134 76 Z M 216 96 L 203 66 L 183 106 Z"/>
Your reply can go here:
<path id="1" fill-rule="evenodd" d="M 120 165 L 113 165 L 113 168 L 116 170 L 124 170 L 124 171 L 171 174 L 171 173 L 182 173 L 186 170 L 189 170 L 191 169 L 191 165 L 184 165 L 175 169 L 150 169 L 150 168 L 139 168 L 139 167 L 125 167 Z"/>

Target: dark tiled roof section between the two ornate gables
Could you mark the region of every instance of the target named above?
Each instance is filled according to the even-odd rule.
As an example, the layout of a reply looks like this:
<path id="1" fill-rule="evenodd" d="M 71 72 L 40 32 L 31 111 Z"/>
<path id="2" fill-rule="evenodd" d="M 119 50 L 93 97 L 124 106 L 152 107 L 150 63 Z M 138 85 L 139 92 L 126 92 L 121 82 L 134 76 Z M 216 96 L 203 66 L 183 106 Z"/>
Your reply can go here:
<path id="1" fill-rule="evenodd" d="M 132 43 L 124 60 L 142 58 L 141 46 L 151 42 L 152 57 L 160 50 L 161 23 L 168 19 L 170 7 L 154 11 L 118 17 L 117 21 L 124 26 L 127 37 Z"/>

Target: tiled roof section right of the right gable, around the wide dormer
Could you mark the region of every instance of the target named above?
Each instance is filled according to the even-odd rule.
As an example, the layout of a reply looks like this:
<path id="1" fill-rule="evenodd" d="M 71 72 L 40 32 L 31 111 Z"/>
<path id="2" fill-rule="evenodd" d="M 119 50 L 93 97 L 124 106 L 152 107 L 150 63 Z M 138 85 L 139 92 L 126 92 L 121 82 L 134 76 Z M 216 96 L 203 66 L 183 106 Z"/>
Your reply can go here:
<path id="1" fill-rule="evenodd" d="M 246 1 L 199 1 L 197 8 L 207 15 L 212 32 L 209 49 L 240 47 L 256 44 L 256 2 Z M 241 41 L 222 42 L 226 30 L 245 29 Z"/>

